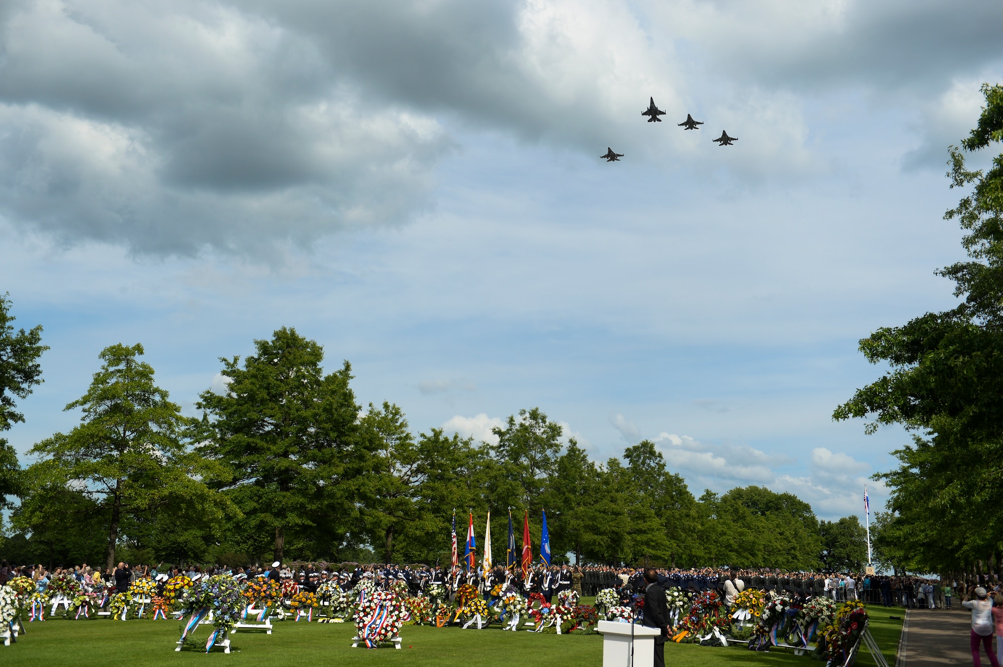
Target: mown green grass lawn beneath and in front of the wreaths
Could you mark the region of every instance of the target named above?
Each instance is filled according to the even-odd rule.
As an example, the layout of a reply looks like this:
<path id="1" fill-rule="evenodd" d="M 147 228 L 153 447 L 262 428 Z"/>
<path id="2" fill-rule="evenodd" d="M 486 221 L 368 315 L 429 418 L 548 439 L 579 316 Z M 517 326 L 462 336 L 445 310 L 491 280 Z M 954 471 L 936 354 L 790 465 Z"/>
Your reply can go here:
<path id="1" fill-rule="evenodd" d="M 902 621 L 888 618 L 889 611 L 871 607 L 872 634 L 889 664 L 895 661 Z M 892 611 L 903 615 L 901 611 Z M 0 664 L 5 667 L 31 665 L 51 667 L 144 667 L 145 665 L 476 665 L 518 666 L 602 665 L 603 640 L 600 635 L 545 635 L 529 632 L 503 632 L 498 625 L 484 630 L 406 626 L 401 631 L 403 648 L 392 646 L 376 650 L 351 648 L 354 627 L 351 623 L 318 624 L 283 621 L 275 623 L 271 636 L 261 632 L 238 632 L 231 635 L 232 653 L 186 648 L 175 652 L 181 635 L 178 621 L 148 619 L 111 621 L 106 617 L 72 621 L 56 617 L 44 623 L 27 623 L 27 634 L 9 647 L 0 646 Z M 202 645 L 209 637 L 209 626 L 201 626 L 196 640 Z M 710 648 L 693 644 L 669 643 L 665 660 L 670 665 L 703 666 L 720 664 L 804 665 L 818 664 L 807 656 L 794 656 L 789 650 L 773 648 L 768 653 L 748 651 L 744 645 Z M 862 651 L 859 665 L 874 665 L 870 654 Z"/>

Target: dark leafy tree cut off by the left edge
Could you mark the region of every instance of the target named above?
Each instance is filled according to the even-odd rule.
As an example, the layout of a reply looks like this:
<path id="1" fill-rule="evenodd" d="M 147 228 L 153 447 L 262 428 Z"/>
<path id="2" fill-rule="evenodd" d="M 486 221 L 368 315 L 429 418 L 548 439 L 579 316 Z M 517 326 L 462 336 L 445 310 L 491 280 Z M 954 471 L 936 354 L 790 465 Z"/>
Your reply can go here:
<path id="1" fill-rule="evenodd" d="M 42 345 L 42 325 L 25 331 L 14 331 L 11 324 L 10 294 L 0 295 L 0 432 L 24 422 L 24 415 L 17 412 L 14 399 L 26 399 L 32 388 L 42 384 L 42 367 L 39 358 L 48 350 Z M 0 510 L 9 507 L 7 496 L 17 493 L 17 453 L 7 441 L 0 438 Z"/>

